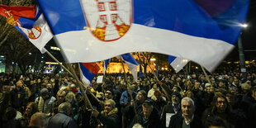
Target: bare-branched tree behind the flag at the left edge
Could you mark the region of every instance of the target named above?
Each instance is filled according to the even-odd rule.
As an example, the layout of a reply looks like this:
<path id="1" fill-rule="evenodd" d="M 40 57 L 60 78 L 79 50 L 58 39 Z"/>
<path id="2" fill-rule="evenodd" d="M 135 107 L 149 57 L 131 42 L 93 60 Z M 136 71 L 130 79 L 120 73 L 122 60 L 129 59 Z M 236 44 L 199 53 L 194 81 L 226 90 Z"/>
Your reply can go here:
<path id="1" fill-rule="evenodd" d="M 7 6 L 30 6 L 33 0 L 0 0 L 0 3 Z M 28 53 L 36 51 L 19 31 L 12 25 L 7 24 L 5 17 L 0 17 L 0 54 L 6 56 L 6 64 L 12 64 L 13 71 L 16 65 L 22 73 L 26 73 L 29 64 L 33 64 L 33 57 Z"/>

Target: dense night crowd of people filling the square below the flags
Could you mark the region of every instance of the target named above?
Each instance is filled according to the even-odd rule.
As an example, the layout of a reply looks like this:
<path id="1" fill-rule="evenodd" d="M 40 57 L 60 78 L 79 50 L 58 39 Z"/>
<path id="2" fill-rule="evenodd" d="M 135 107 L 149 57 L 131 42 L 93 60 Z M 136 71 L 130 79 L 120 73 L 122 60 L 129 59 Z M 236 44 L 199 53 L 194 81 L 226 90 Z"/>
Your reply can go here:
<path id="1" fill-rule="evenodd" d="M 256 74 L 106 73 L 85 93 L 67 74 L 0 74 L 0 127 L 256 127 Z M 89 105 L 86 94 L 92 107 Z"/>

